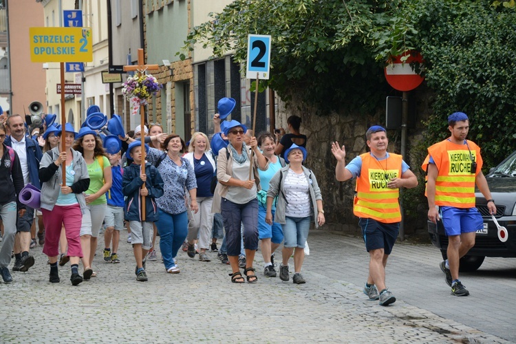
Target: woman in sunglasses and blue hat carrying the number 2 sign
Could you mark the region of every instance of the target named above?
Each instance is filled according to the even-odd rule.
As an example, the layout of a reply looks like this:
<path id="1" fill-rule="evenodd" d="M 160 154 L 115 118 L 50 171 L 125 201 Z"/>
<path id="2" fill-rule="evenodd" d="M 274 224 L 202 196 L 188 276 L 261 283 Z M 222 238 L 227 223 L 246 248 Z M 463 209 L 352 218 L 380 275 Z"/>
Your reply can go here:
<path id="1" fill-rule="evenodd" d="M 251 161 L 251 154 L 244 142 L 247 128 L 236 120 L 224 123 L 224 135 L 229 139 L 227 148 L 219 151 L 217 157 L 217 179 L 213 199 L 213 213 L 222 213 L 228 258 L 233 273 L 233 283 L 244 283 L 239 271 L 238 256 L 240 254 L 240 224 L 244 224 L 244 248 L 246 250 L 246 268 L 244 275 L 249 283 L 258 281 L 252 261 L 258 249 L 258 200 L 260 178 L 257 167 L 267 169 L 267 160 L 257 149 L 256 138 L 251 138 L 250 147 L 257 152 Z M 254 179 L 249 178 L 250 171 Z"/>

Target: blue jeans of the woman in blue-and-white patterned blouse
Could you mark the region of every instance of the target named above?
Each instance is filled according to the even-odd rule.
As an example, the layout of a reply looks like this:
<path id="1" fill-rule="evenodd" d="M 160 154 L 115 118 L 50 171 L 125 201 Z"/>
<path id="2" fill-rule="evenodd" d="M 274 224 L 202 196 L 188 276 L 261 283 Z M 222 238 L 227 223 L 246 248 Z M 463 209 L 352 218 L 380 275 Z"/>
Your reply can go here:
<path id="1" fill-rule="evenodd" d="M 188 215 L 186 211 L 180 214 L 169 214 L 158 209 L 158 222 L 155 222 L 160 233 L 160 250 L 166 270 L 175 264 L 173 259 L 188 235 Z"/>

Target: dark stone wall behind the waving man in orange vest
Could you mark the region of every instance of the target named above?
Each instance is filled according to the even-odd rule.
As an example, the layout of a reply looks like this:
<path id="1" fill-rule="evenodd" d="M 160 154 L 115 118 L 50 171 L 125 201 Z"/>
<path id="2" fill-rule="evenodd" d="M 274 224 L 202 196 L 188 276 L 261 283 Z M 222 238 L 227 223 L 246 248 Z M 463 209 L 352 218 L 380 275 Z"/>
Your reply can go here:
<path id="1" fill-rule="evenodd" d="M 405 217 L 405 233 L 407 234 L 415 233 L 416 230 L 426 230 L 428 209 L 426 199 L 423 197 L 424 182 L 422 182 L 423 175 L 420 169 L 424 156 L 420 153 L 421 149 L 418 144 L 424 135 L 422 120 L 427 118 L 429 114 L 431 93 L 428 89 L 421 87 L 420 90 L 414 91 L 411 96 L 411 101 L 415 101 L 417 104 L 417 116 L 413 118 L 414 125 L 408 131 L 405 161 L 420 178 L 420 185 L 418 189 L 406 191 L 415 193 L 416 198 L 418 198 L 416 200 L 417 204 L 407 206 L 410 208 L 410 216 Z M 279 102 L 277 127 L 286 128 L 288 116 L 297 115 L 302 118 L 300 131 L 308 137 L 306 166 L 312 169 L 321 187 L 327 222 L 325 228 L 360 233 L 358 219 L 353 214 L 355 181 L 336 181 L 336 160 L 331 152 L 331 142 L 338 141 L 339 144 L 345 146 L 346 162 L 350 162 L 357 155 L 365 153 L 367 149 L 365 132 L 372 125 L 385 126 L 385 108 L 378 109 L 375 114 L 337 114 L 333 112 L 329 116 L 318 116 L 315 109 L 303 105 L 302 100 L 296 98 L 295 92 L 292 94 L 292 100 L 289 104 L 291 105 Z M 400 130 L 387 131 L 387 137 L 389 138 L 388 150 L 400 153 Z"/>

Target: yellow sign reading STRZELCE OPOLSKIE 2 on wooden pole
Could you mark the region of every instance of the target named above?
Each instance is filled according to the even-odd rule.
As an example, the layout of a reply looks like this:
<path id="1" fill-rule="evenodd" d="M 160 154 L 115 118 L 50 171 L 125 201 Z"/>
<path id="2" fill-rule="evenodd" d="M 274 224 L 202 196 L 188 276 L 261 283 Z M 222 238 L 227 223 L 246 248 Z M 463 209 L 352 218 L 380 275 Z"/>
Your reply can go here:
<path id="1" fill-rule="evenodd" d="M 30 61 L 91 62 L 91 28 L 29 28 Z"/>

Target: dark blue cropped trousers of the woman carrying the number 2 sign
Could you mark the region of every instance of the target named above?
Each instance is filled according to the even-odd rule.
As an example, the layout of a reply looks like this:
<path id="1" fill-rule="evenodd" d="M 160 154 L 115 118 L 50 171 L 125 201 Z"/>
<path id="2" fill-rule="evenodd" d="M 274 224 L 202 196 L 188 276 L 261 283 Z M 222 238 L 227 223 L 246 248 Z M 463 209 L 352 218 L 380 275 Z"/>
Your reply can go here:
<path id="1" fill-rule="evenodd" d="M 221 213 L 224 218 L 228 256 L 237 256 L 241 252 L 241 225 L 244 225 L 244 248 L 258 249 L 258 200 L 256 198 L 245 204 L 233 203 L 222 198 Z"/>

